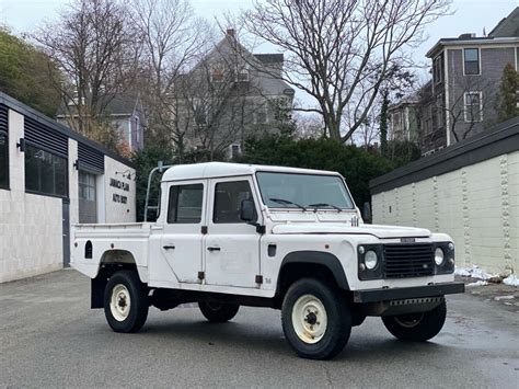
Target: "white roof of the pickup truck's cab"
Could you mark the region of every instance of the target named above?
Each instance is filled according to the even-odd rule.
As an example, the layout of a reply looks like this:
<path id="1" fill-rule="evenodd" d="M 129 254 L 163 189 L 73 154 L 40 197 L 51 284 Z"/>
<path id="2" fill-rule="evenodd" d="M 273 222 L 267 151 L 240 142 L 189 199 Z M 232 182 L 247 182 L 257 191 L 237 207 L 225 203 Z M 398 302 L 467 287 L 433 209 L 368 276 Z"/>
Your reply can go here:
<path id="1" fill-rule="evenodd" d="M 251 175 L 257 171 L 274 171 L 284 173 L 307 174 L 338 174 L 324 170 L 311 170 L 285 167 L 268 167 L 261 164 L 206 162 L 193 164 L 178 164 L 170 168 L 162 176 L 162 181 L 215 179 L 221 176 Z"/>

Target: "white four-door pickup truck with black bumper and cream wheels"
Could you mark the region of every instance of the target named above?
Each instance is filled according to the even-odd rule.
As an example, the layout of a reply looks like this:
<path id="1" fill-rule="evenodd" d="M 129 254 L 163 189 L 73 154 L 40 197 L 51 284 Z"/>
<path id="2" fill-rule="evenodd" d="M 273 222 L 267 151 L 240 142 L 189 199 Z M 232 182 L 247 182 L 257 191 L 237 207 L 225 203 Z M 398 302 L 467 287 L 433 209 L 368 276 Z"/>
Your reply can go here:
<path id="1" fill-rule="evenodd" d="M 367 316 L 397 339 L 429 340 L 443 296 L 464 290 L 449 236 L 365 225 L 335 172 L 176 165 L 161 193 L 155 222 L 73 228 L 71 264 L 92 278 L 91 306 L 116 332 L 139 331 L 150 306 L 198 302 L 214 322 L 269 307 L 298 355 L 326 359 Z"/>

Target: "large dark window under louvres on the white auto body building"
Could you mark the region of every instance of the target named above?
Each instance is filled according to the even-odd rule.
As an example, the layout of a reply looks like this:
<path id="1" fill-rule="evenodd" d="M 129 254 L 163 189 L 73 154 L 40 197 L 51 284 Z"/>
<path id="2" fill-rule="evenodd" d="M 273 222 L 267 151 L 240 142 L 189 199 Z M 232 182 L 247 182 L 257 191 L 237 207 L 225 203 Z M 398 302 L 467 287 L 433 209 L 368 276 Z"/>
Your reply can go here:
<path id="1" fill-rule="evenodd" d="M 25 146 L 25 190 L 67 197 L 67 159 L 35 146 Z"/>

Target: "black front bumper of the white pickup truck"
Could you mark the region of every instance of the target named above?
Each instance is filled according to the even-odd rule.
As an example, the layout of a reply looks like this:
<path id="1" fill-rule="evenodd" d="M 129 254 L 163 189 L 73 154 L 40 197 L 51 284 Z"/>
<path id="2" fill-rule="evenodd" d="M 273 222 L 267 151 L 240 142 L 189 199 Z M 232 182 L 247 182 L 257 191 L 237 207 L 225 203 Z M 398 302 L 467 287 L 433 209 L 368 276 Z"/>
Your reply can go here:
<path id="1" fill-rule="evenodd" d="M 439 297 L 464 291 L 465 284 L 463 283 L 442 283 L 405 288 L 354 290 L 353 294 L 354 302 L 365 304 L 422 297 Z"/>

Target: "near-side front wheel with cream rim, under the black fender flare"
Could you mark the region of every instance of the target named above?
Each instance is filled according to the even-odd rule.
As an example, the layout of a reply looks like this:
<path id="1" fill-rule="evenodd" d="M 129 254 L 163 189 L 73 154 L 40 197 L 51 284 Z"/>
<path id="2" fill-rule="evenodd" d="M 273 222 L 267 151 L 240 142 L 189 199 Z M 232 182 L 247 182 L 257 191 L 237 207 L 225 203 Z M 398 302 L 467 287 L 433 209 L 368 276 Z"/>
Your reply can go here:
<path id="1" fill-rule="evenodd" d="M 316 306 L 324 309 L 325 316 L 319 312 L 313 318 L 315 319 L 320 316 L 326 318 L 325 329 L 321 329 L 324 332 L 313 337 L 313 340 L 312 335 L 312 335 L 305 331 L 301 333 L 301 327 L 299 327 L 298 334 L 298 324 L 295 325 L 292 320 L 292 317 L 295 317 L 296 321 L 301 320 L 299 301 L 304 301 L 307 296 L 316 298 Z M 308 302 L 307 307 L 312 307 L 312 297 L 310 297 L 310 302 Z M 303 305 L 303 307 L 305 306 Z M 307 314 L 305 312 L 311 314 L 311 308 L 303 308 L 302 311 L 303 316 Z M 315 312 L 318 311 L 319 309 L 315 310 Z M 302 320 L 307 322 L 307 324 L 303 323 L 302 325 L 309 325 L 309 316 Z M 288 344 L 299 356 L 310 359 L 331 359 L 343 351 L 349 340 L 351 313 L 338 289 L 327 286 L 320 279 L 301 278 L 293 283 L 285 295 L 281 307 L 281 324 Z M 303 340 L 303 337 L 307 340 Z M 319 339 L 315 343 L 309 343 L 314 342 L 315 339 Z"/>

